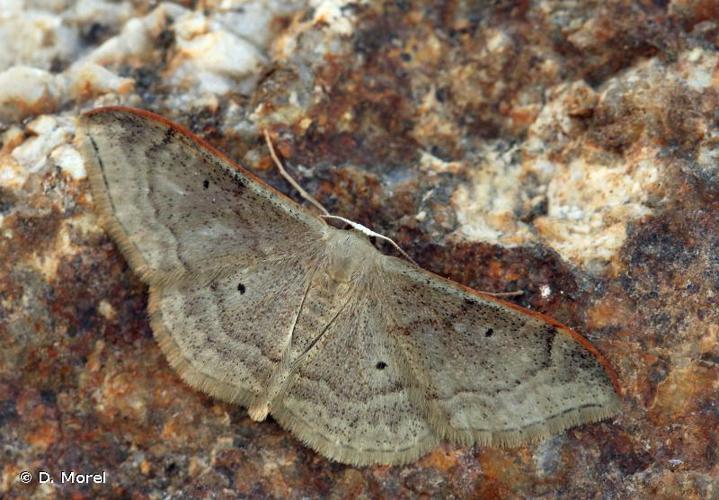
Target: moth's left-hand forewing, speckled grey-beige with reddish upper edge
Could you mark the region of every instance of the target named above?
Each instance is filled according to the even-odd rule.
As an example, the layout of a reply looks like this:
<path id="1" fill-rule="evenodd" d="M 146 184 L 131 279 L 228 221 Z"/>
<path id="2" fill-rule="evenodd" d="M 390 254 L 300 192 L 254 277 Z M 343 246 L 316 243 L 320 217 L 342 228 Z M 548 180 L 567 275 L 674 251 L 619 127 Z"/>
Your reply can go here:
<path id="1" fill-rule="evenodd" d="M 324 222 L 189 131 L 132 108 L 100 108 L 79 128 L 108 231 L 148 283 L 281 258 Z"/>

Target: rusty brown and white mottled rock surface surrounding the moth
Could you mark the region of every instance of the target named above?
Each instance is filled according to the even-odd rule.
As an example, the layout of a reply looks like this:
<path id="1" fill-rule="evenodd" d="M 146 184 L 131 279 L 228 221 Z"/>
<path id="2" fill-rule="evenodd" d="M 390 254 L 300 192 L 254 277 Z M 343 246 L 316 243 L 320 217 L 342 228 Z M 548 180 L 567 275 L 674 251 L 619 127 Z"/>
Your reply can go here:
<path id="1" fill-rule="evenodd" d="M 719 4 L 0 1 L 0 496 L 719 498 Z M 584 332 L 624 410 L 352 468 L 185 386 L 75 119 L 183 123 L 424 267 Z M 107 485 L 20 471 L 107 471 Z"/>

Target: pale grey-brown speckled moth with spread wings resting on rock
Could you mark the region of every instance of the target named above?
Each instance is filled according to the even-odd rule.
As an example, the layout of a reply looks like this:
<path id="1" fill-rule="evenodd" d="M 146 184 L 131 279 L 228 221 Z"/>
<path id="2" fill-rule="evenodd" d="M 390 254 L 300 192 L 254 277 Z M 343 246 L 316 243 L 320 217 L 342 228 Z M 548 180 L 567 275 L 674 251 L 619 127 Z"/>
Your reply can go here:
<path id="1" fill-rule="evenodd" d="M 254 420 L 366 465 L 441 440 L 521 445 L 618 411 L 609 363 L 557 321 L 381 253 L 155 114 L 96 109 L 79 131 L 169 363 Z"/>

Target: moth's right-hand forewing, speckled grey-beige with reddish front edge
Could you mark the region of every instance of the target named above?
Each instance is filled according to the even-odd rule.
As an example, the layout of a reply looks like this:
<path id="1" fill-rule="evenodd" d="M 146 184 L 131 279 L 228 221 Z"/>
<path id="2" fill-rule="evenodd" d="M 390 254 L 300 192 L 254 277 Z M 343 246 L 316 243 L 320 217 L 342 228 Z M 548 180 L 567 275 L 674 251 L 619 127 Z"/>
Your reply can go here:
<path id="1" fill-rule="evenodd" d="M 515 446 L 618 411 L 616 375 L 579 334 L 405 261 L 382 262 L 387 334 L 439 436 Z"/>

